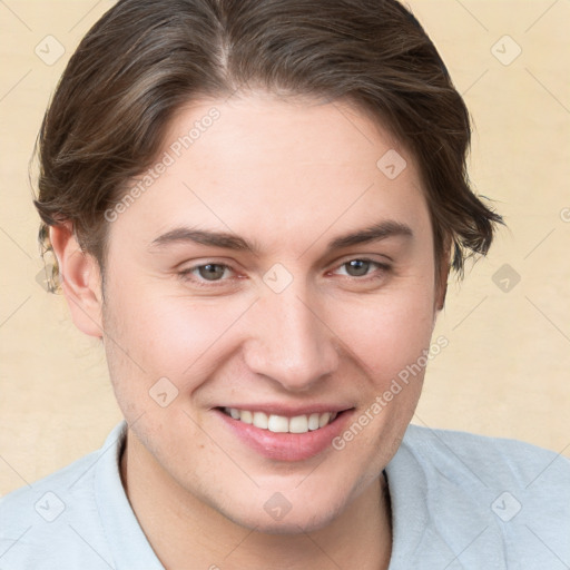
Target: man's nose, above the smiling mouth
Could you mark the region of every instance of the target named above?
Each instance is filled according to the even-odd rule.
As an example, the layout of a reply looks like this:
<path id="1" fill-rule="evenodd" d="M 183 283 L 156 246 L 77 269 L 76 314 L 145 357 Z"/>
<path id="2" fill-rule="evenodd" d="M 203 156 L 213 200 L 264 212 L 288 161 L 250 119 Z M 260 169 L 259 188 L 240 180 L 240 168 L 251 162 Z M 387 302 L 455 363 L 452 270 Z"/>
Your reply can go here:
<path id="1" fill-rule="evenodd" d="M 311 390 L 338 366 L 338 340 L 318 316 L 317 306 L 289 286 L 268 292 L 254 307 L 254 334 L 245 344 L 249 370 L 291 392 Z"/>

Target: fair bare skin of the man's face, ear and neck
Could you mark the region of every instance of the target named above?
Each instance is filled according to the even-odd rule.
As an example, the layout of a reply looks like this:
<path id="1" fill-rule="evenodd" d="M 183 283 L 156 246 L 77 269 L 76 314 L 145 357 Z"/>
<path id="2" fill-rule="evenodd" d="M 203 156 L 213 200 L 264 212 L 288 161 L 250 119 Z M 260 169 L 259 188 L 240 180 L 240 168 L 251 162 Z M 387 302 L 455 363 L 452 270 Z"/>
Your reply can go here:
<path id="1" fill-rule="evenodd" d="M 163 156 L 215 106 L 219 119 L 109 224 L 105 296 L 97 262 L 69 224 L 51 228 L 76 325 L 102 338 L 129 424 L 121 474 L 129 500 L 168 569 L 387 568 L 390 502 L 382 470 L 420 397 L 414 379 L 342 451 L 267 459 L 237 440 L 214 409 L 244 402 L 334 403 L 357 419 L 429 348 L 443 304 L 430 216 L 413 157 L 347 104 L 264 94 L 179 109 Z M 396 149 L 407 167 L 389 179 L 376 161 Z M 374 224 L 393 235 L 327 252 Z M 256 253 L 179 240 L 179 226 L 225 232 Z M 371 259 L 355 276 L 346 264 Z M 225 264 L 218 282 L 200 264 Z M 283 265 L 275 293 L 264 275 Z M 440 282 L 445 281 L 442 271 Z M 202 284 L 202 286 L 200 286 Z M 105 297 L 105 301 L 104 301 Z M 169 379 L 166 407 L 149 390 Z M 153 489 L 153 493 L 148 492 Z M 264 509 L 291 503 L 279 521 Z M 337 566 L 336 566 L 337 564 Z"/>

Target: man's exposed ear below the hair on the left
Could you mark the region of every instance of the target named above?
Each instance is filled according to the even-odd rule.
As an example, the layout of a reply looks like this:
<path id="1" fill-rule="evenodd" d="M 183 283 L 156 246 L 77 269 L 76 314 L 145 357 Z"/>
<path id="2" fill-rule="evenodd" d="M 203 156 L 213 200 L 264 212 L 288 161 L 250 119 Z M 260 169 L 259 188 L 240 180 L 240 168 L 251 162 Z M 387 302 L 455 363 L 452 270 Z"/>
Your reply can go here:
<path id="1" fill-rule="evenodd" d="M 81 249 L 71 223 L 51 226 L 49 237 L 75 325 L 85 334 L 101 338 L 102 295 L 97 259 Z"/>

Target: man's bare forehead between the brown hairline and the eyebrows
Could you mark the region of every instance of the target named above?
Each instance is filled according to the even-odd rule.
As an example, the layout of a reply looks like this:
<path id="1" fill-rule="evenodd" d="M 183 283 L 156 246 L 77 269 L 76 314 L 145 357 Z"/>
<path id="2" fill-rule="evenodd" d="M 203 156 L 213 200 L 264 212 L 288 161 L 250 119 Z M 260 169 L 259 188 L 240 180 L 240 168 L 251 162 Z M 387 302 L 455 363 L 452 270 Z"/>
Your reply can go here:
<path id="1" fill-rule="evenodd" d="M 197 101 L 173 117 L 157 169 L 124 216 L 144 222 L 138 232 L 191 223 L 253 240 L 276 239 L 278 228 L 306 242 L 381 218 L 425 223 L 412 156 L 345 102 L 267 95 Z"/>

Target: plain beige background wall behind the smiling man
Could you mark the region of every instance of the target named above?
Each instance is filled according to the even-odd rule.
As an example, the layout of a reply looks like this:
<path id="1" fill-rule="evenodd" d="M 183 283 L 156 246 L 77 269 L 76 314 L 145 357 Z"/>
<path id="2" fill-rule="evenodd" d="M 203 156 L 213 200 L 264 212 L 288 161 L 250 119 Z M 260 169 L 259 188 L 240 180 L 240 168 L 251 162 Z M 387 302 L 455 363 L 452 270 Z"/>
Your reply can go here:
<path id="1" fill-rule="evenodd" d="M 435 333 L 450 344 L 428 368 L 414 423 L 570 456 L 570 1 L 410 3 L 474 118 L 474 185 L 509 224 L 464 283 L 450 285 Z M 75 330 L 63 298 L 37 283 L 39 218 L 28 180 L 58 77 L 111 4 L 0 2 L 0 494 L 98 448 L 120 419 L 100 346 Z M 65 47 L 51 66 L 35 52 L 50 41 L 57 55 L 47 36 Z M 493 282 L 504 264 L 521 277 L 508 292 Z"/>

